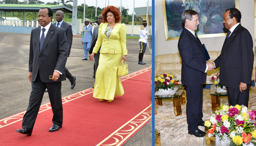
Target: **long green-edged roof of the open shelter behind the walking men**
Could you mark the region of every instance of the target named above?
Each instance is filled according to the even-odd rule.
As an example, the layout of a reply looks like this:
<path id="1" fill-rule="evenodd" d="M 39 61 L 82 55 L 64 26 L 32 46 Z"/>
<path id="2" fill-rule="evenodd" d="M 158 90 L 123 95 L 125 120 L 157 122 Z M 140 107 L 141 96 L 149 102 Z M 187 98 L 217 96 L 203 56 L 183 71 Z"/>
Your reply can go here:
<path id="1" fill-rule="evenodd" d="M 53 10 L 53 12 L 57 12 L 58 10 L 62 10 L 64 13 L 72 13 L 72 9 L 68 8 L 64 5 L 39 5 L 39 4 L 0 4 L 0 10 L 6 12 L 35 12 L 39 11 L 43 7 L 49 7 Z"/>

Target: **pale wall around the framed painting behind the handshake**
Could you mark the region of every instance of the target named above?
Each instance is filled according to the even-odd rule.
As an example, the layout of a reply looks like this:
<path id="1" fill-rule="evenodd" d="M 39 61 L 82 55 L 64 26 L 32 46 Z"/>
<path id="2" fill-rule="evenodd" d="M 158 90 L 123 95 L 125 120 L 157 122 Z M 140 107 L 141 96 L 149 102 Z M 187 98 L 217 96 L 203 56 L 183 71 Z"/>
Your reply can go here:
<path id="1" fill-rule="evenodd" d="M 251 33 L 254 40 L 254 1 L 239 0 L 239 11 L 242 14 L 241 25 Z M 205 44 L 208 51 L 219 51 L 222 48 L 225 36 L 199 39 Z M 155 56 L 178 53 L 178 41 L 179 40 L 165 40 L 162 0 L 155 0 Z"/>

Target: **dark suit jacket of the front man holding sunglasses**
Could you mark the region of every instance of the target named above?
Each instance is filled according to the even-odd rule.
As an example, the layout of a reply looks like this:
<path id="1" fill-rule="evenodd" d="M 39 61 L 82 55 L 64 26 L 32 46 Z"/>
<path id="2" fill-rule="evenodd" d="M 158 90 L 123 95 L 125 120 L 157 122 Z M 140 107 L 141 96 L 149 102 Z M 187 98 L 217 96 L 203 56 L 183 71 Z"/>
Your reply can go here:
<path id="1" fill-rule="evenodd" d="M 30 37 L 29 72 L 32 72 L 32 81 L 36 80 L 39 71 L 42 82 L 54 82 L 49 79 L 54 70 L 62 72 L 57 82 L 66 80 L 64 68 L 67 60 L 67 39 L 64 29 L 51 24 L 41 52 L 40 32 L 41 27 L 35 28 Z"/>

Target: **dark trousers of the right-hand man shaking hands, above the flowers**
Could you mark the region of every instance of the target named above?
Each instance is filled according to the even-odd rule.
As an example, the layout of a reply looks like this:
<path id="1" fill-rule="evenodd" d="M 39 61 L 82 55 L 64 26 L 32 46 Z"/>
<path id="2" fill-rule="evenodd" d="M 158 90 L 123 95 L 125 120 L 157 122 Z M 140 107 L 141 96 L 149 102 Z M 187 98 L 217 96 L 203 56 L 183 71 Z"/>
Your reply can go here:
<path id="1" fill-rule="evenodd" d="M 244 105 L 248 108 L 250 84 L 247 84 L 247 89 L 240 92 L 239 88 L 227 88 L 229 106 Z"/>

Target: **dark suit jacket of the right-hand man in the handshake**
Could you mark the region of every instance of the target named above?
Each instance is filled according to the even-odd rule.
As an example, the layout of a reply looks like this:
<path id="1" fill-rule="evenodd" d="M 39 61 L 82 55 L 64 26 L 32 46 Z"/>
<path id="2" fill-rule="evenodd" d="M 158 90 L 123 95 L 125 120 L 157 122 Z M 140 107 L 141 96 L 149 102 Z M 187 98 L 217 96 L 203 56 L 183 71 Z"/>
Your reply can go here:
<path id="1" fill-rule="evenodd" d="M 239 88 L 240 82 L 251 84 L 253 68 L 253 41 L 247 29 L 239 24 L 221 49 L 219 57 L 214 60 L 219 68 L 220 84 L 230 88 Z"/>

